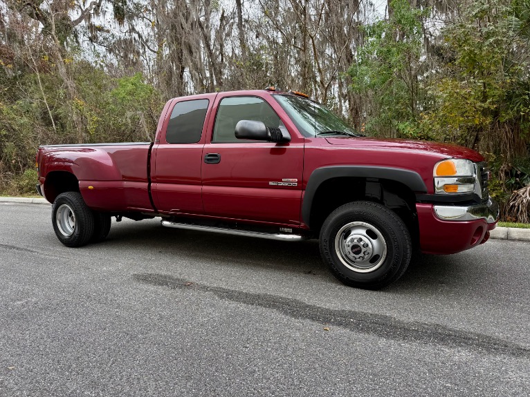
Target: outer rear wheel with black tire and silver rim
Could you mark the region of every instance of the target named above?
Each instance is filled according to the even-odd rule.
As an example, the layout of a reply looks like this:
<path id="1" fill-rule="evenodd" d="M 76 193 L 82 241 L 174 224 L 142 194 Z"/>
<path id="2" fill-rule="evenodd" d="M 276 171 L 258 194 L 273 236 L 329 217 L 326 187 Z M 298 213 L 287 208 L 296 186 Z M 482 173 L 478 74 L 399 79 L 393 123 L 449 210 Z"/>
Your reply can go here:
<path id="1" fill-rule="evenodd" d="M 94 232 L 94 215 L 77 192 L 61 193 L 52 206 L 51 222 L 62 244 L 84 246 Z"/>

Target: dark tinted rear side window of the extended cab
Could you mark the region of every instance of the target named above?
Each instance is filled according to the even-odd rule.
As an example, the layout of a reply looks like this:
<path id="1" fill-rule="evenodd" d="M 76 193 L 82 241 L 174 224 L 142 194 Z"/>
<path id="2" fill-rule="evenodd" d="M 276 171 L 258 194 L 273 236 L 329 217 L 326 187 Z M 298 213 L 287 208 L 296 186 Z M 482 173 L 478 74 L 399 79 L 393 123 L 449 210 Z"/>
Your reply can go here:
<path id="1" fill-rule="evenodd" d="M 179 102 L 173 108 L 167 124 L 165 140 L 170 144 L 194 144 L 203 132 L 208 99 Z"/>

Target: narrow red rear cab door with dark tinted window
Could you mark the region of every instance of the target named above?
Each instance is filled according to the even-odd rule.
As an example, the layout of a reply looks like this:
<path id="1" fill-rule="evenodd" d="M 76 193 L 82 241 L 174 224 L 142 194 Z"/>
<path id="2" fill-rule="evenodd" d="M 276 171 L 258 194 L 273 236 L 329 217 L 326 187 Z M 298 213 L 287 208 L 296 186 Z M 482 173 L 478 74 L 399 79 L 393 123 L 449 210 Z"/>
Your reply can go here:
<path id="1" fill-rule="evenodd" d="M 205 119 L 217 94 L 174 99 L 152 153 L 152 196 L 164 213 L 202 214 Z"/>

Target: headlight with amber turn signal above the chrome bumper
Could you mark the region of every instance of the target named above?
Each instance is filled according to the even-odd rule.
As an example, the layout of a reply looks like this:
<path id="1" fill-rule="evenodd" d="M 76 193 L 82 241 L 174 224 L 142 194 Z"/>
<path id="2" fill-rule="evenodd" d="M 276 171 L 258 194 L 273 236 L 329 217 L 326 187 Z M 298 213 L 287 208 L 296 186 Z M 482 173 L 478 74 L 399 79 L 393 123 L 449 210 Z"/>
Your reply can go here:
<path id="1" fill-rule="evenodd" d="M 466 159 L 446 159 L 435 164 L 435 193 L 473 193 L 478 183 L 475 163 Z"/>

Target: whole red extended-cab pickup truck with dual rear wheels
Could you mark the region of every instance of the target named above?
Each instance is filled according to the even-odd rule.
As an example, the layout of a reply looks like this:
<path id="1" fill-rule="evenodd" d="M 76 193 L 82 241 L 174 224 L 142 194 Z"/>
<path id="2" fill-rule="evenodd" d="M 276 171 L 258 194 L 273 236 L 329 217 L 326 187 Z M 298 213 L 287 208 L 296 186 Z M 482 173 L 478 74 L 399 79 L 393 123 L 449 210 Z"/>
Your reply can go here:
<path id="1" fill-rule="evenodd" d="M 300 93 L 179 97 L 151 143 L 40 146 L 37 190 L 66 246 L 107 237 L 111 217 L 297 241 L 318 238 L 345 284 L 379 289 L 416 249 L 482 244 L 498 206 L 468 148 L 374 139 Z"/>

